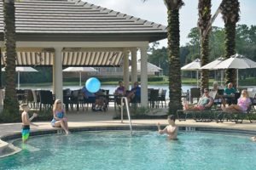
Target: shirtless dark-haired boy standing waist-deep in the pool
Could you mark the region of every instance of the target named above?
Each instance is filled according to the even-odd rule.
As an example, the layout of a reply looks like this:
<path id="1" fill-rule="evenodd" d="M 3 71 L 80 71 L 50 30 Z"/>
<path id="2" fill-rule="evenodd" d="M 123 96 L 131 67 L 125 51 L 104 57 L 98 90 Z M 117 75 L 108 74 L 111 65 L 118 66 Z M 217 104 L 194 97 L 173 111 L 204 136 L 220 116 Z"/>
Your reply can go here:
<path id="1" fill-rule="evenodd" d="M 160 134 L 166 133 L 168 135 L 168 139 L 170 140 L 176 140 L 178 127 L 175 124 L 175 116 L 170 115 L 168 116 L 167 120 L 169 125 L 167 125 L 163 130 L 160 128 L 160 122 L 157 123 L 158 132 Z"/>

